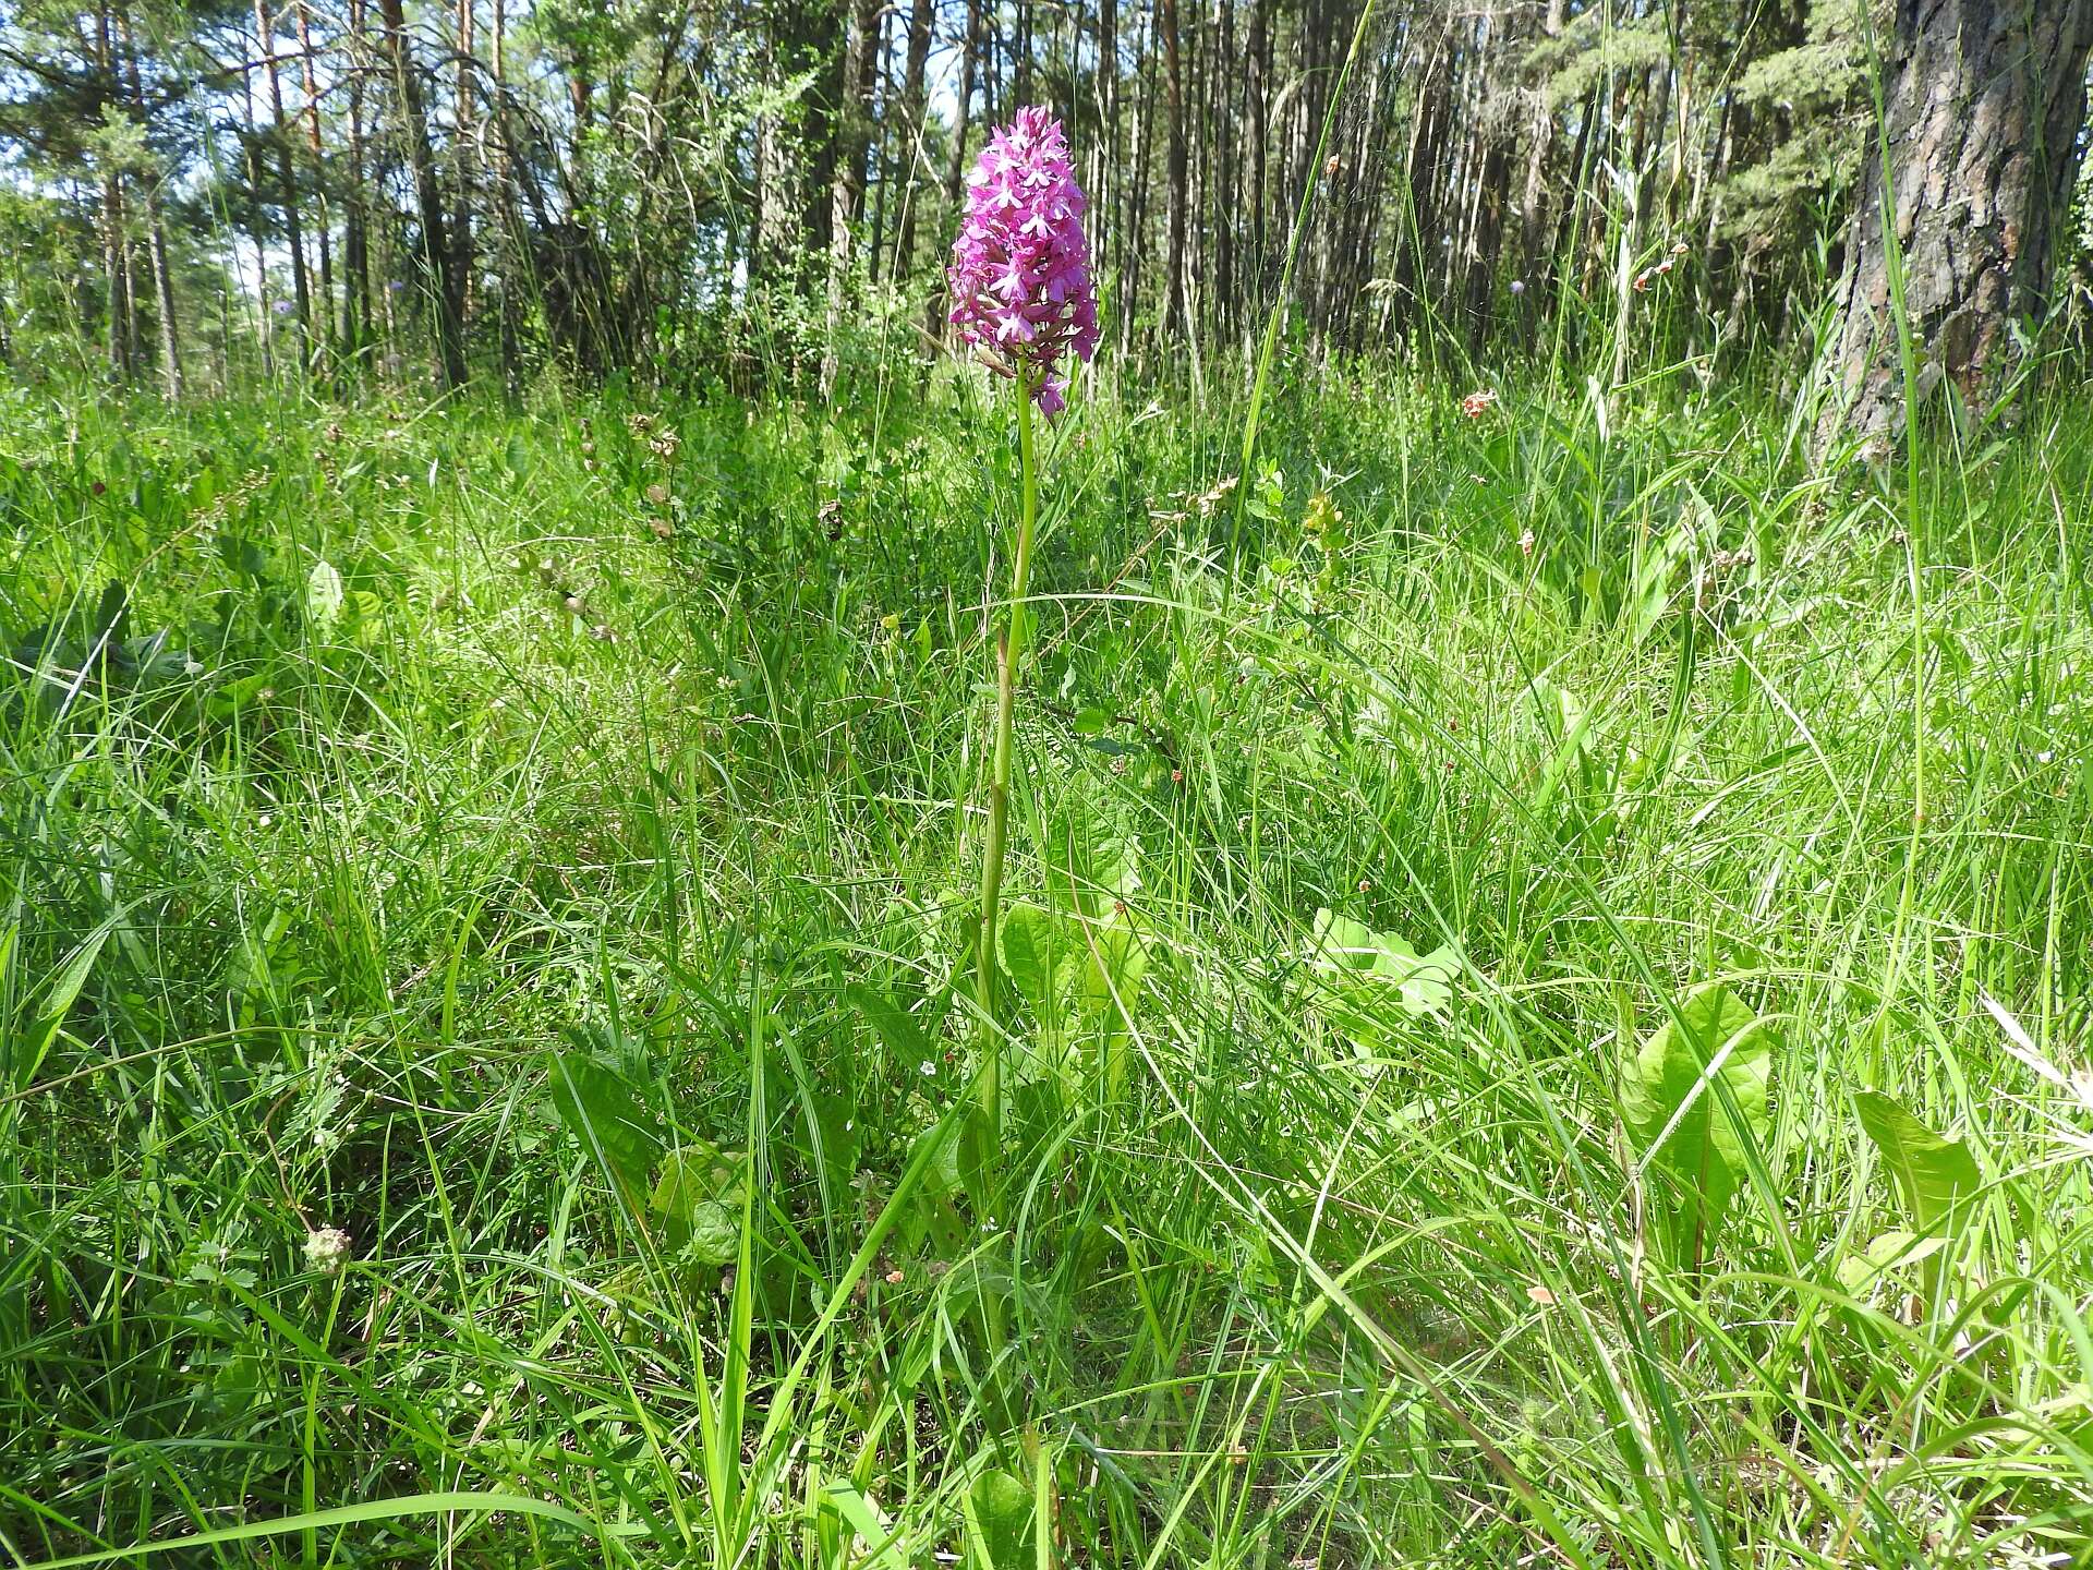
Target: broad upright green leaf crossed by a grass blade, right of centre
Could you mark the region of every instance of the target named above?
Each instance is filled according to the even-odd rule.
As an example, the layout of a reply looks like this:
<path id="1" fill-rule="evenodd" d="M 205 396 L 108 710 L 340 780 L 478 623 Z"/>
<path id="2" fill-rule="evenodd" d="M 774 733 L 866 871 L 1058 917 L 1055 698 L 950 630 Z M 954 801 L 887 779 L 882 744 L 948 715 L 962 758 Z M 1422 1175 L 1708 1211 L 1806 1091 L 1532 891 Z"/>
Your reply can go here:
<path id="1" fill-rule="evenodd" d="M 1706 986 L 1626 1061 L 1620 1101 L 1637 1162 L 1664 1174 L 1653 1199 L 1668 1208 L 1679 1258 L 1700 1260 L 1746 1172 L 1746 1141 L 1764 1143 L 1773 1118 L 1771 1032 L 1725 986 Z M 1716 1080 L 1735 1101 L 1739 1128 Z"/>

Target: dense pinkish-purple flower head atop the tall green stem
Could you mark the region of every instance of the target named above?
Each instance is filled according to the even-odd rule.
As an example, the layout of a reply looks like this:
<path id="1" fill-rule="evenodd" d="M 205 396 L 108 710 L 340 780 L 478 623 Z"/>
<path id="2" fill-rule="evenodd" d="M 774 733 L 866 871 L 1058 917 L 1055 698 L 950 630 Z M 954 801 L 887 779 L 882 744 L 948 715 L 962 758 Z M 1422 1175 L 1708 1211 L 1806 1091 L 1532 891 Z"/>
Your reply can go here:
<path id="1" fill-rule="evenodd" d="M 946 270 L 959 335 L 1015 360 L 1049 417 L 1065 406 L 1061 356 L 1097 352 L 1086 205 L 1061 121 L 1036 105 L 1019 109 L 967 178 L 967 214 Z"/>

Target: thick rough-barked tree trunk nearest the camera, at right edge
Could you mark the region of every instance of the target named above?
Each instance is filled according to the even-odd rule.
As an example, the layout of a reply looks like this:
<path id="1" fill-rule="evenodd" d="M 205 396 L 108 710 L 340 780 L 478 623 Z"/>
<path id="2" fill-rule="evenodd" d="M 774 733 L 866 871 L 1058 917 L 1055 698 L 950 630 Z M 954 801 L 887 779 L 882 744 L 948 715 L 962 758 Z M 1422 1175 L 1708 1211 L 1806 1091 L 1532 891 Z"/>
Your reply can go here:
<path id="1" fill-rule="evenodd" d="M 1905 421 L 1890 318 L 1888 211 L 1903 251 L 1917 391 L 1942 381 L 1982 402 L 2007 322 L 2041 316 L 2087 111 L 2093 0 L 1898 0 L 1886 63 L 1890 190 L 1863 159 L 1846 243 L 1838 373 L 1819 435 Z"/>

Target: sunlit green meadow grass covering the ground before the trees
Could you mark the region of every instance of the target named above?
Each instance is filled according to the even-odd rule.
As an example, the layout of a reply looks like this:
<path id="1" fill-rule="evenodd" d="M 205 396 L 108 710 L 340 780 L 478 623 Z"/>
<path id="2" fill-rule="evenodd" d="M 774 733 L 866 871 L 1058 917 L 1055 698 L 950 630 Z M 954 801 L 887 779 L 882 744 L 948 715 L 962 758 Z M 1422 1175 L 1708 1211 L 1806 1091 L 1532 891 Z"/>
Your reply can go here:
<path id="1" fill-rule="evenodd" d="M 1005 1214 L 1000 402 L 6 394 L 0 1560 L 2083 1560 L 2093 406 L 1459 391 L 1046 438 Z"/>

